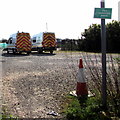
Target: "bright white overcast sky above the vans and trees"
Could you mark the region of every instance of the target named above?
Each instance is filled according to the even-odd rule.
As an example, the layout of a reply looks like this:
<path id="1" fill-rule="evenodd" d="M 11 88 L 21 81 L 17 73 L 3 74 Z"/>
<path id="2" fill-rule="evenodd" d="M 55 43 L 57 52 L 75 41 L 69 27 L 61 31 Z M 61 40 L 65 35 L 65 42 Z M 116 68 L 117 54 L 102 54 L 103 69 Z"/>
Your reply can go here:
<path id="1" fill-rule="evenodd" d="M 118 2 L 105 0 L 112 8 L 112 19 L 118 20 Z M 93 18 L 100 0 L 0 0 L 0 39 L 11 34 L 29 32 L 31 37 L 40 32 L 54 32 L 56 38 L 78 39 L 84 29 L 101 24 Z"/>

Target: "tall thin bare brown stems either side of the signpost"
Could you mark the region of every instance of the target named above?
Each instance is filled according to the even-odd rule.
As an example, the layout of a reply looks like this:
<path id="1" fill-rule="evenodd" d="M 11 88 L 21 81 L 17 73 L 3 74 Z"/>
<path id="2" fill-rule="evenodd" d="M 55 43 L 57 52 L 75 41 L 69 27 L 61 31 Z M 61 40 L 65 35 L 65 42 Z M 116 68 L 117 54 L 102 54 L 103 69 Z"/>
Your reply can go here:
<path id="1" fill-rule="evenodd" d="M 82 54 L 88 88 L 100 96 L 102 84 L 102 62 L 100 54 Z M 107 54 L 107 108 L 110 114 L 120 117 L 120 56 Z"/>

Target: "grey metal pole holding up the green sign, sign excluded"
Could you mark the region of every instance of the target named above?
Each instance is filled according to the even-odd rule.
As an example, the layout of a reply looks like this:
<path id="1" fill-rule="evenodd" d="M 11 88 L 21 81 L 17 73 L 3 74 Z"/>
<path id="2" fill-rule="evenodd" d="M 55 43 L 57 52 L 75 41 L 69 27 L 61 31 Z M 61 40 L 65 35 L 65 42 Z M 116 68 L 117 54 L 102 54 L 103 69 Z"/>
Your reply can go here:
<path id="1" fill-rule="evenodd" d="M 101 0 L 101 8 L 105 8 L 105 0 Z M 102 52 L 102 105 L 107 109 L 106 86 L 106 26 L 105 19 L 101 19 L 101 52 Z"/>

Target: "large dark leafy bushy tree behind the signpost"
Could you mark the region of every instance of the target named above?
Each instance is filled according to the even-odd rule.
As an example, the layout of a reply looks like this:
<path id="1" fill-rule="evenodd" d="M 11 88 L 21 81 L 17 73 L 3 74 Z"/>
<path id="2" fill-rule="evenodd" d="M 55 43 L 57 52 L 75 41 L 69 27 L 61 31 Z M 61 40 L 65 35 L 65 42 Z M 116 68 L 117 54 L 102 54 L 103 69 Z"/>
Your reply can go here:
<path id="1" fill-rule="evenodd" d="M 84 51 L 101 51 L 101 25 L 92 24 L 82 33 Z M 107 52 L 120 53 L 120 22 L 112 21 L 106 25 Z"/>

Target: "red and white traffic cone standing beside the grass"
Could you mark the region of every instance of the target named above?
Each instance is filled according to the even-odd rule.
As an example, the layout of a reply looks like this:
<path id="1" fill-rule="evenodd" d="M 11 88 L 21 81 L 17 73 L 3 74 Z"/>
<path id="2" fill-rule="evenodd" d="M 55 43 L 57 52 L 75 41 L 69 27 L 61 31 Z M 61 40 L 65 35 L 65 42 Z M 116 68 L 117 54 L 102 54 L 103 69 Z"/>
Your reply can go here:
<path id="1" fill-rule="evenodd" d="M 79 62 L 76 94 L 77 94 L 78 97 L 88 96 L 88 89 L 87 89 L 87 85 L 86 85 L 86 82 L 85 82 L 82 59 L 80 59 L 80 62 Z"/>

